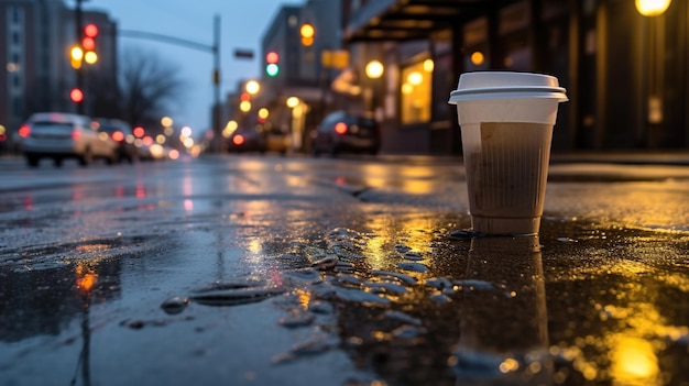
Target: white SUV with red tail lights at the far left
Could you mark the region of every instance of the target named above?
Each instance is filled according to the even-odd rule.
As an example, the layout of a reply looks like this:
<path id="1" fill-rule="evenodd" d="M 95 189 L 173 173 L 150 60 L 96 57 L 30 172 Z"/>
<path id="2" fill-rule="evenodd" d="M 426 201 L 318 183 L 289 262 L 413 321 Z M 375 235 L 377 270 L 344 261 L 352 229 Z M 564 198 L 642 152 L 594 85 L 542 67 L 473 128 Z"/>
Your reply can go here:
<path id="1" fill-rule="evenodd" d="M 91 125 L 90 118 L 63 112 L 37 112 L 20 128 L 22 153 L 29 166 L 39 166 L 41 158 L 53 158 L 62 166 L 65 158 L 77 158 L 87 166 L 95 158 L 108 165 L 118 162 L 117 143 Z"/>

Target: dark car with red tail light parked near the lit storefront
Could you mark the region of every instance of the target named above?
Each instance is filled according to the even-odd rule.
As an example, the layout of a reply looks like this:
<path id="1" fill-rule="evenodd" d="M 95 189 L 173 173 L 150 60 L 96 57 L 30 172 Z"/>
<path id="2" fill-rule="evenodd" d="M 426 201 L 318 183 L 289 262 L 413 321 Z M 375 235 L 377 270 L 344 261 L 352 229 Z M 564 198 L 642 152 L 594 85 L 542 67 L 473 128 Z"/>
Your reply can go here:
<path id="1" fill-rule="evenodd" d="M 311 132 L 314 155 L 327 153 L 378 154 L 381 133 L 375 120 L 336 111 L 328 114 Z"/>

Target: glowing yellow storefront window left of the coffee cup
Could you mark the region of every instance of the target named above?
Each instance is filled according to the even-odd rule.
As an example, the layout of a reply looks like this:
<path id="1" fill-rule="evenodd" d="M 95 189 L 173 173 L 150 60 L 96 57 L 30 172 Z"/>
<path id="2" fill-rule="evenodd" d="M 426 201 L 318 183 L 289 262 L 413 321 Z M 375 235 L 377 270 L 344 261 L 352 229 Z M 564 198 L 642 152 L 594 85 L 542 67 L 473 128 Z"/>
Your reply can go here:
<path id="1" fill-rule="evenodd" d="M 402 124 L 430 121 L 434 63 L 425 59 L 402 69 Z"/>

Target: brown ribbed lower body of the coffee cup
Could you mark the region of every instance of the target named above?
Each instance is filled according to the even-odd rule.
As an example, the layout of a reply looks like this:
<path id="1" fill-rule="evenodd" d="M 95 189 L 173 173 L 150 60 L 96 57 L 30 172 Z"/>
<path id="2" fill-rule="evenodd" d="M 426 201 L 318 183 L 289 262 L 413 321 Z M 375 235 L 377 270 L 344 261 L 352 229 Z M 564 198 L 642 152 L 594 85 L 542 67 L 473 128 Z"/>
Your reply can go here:
<path id="1" fill-rule="evenodd" d="M 473 230 L 537 233 L 550 159 L 553 125 L 482 122 L 462 125 Z"/>

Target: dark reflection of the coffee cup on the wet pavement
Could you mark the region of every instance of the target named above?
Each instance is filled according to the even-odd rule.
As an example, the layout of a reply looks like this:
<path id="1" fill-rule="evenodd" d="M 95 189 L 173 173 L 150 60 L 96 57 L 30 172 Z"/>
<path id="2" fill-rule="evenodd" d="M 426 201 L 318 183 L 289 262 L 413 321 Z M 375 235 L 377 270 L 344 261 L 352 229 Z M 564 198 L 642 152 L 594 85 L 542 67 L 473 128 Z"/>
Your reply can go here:
<path id="1" fill-rule="evenodd" d="M 549 384 L 538 236 L 473 239 L 462 291 L 458 384 Z"/>

